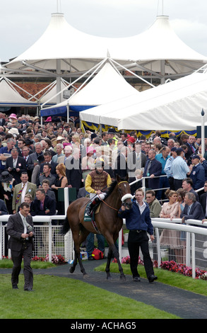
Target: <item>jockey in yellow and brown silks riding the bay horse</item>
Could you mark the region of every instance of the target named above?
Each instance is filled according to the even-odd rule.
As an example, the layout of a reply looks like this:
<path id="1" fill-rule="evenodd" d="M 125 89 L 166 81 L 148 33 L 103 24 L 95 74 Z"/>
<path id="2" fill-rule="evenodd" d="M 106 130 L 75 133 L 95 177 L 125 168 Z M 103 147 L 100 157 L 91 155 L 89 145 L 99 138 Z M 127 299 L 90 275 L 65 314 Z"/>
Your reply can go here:
<path id="1" fill-rule="evenodd" d="M 93 208 L 95 208 L 106 196 L 106 189 L 112 183 L 110 175 L 104 171 L 104 160 L 98 158 L 95 160 L 95 170 L 91 171 L 85 179 L 85 190 L 90 193 L 93 201 L 88 205 L 86 214 L 89 216 Z"/>

